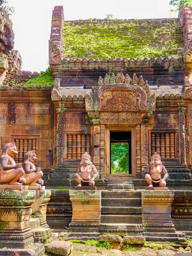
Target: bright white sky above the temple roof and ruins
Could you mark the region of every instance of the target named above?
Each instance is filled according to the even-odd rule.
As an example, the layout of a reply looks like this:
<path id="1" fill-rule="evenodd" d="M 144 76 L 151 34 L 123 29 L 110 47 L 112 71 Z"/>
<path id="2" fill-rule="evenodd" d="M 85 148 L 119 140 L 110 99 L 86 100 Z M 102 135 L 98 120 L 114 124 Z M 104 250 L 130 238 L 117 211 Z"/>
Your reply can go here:
<path id="1" fill-rule="evenodd" d="M 65 20 L 105 18 L 118 19 L 170 17 L 170 0 L 8 0 L 15 6 L 11 16 L 15 49 L 22 57 L 22 70 L 44 71 L 48 66 L 48 40 L 54 6 L 64 6 Z M 177 17 L 177 14 L 171 17 Z"/>

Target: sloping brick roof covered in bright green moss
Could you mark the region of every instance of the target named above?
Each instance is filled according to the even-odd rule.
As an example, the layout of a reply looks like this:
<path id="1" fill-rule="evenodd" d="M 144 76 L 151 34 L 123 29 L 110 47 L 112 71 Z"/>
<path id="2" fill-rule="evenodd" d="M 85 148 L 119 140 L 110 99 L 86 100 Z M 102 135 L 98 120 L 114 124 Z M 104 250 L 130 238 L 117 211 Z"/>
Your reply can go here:
<path id="1" fill-rule="evenodd" d="M 179 19 L 64 22 L 65 58 L 182 56 Z"/>

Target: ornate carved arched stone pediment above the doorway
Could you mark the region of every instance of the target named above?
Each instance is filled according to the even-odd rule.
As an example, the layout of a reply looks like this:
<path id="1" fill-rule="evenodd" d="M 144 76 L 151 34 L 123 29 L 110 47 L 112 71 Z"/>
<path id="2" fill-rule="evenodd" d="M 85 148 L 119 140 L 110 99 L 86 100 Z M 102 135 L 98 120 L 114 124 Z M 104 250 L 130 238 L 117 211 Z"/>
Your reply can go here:
<path id="1" fill-rule="evenodd" d="M 132 79 L 128 74 L 113 73 L 99 77 L 85 104 L 86 111 L 154 111 L 155 98 L 142 76 L 134 74 Z"/>

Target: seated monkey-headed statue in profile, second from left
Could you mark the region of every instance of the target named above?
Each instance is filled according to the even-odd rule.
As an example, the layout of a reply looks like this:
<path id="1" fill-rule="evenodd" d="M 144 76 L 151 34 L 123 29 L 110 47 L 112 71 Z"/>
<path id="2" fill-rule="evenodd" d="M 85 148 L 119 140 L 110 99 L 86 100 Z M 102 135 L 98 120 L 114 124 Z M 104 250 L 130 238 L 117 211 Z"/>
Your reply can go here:
<path id="1" fill-rule="evenodd" d="M 44 181 L 41 179 L 43 172 L 40 167 L 35 167 L 34 163 L 37 159 L 35 151 L 28 151 L 24 157 L 23 169 L 26 185 L 43 186 Z"/>

